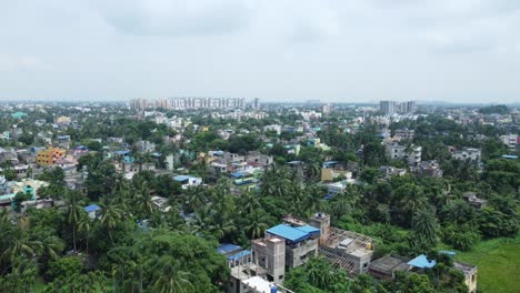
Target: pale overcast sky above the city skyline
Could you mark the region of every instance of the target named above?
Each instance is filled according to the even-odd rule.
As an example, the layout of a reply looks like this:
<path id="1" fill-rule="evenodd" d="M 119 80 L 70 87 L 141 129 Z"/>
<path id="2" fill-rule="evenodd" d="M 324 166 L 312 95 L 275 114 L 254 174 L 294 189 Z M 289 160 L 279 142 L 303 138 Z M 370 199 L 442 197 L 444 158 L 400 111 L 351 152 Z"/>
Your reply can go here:
<path id="1" fill-rule="evenodd" d="M 520 101 L 518 0 L 0 1 L 0 100 Z"/>

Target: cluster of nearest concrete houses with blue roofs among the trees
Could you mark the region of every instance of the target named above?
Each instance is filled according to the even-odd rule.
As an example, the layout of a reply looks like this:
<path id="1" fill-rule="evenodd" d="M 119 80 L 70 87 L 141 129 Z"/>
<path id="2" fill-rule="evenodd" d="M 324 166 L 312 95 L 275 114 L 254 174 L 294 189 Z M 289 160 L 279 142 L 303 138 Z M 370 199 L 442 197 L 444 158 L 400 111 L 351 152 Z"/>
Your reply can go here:
<path id="1" fill-rule="evenodd" d="M 424 254 L 413 259 L 390 254 L 374 259 L 373 250 L 373 239 L 333 228 L 330 215 L 316 213 L 309 219 L 283 218 L 282 223 L 267 229 L 263 238 L 251 240 L 250 249 L 223 243 L 217 251 L 227 257 L 231 271 L 228 293 L 291 293 L 283 287 L 288 270 L 318 255 L 350 277 L 368 273 L 378 280 L 392 280 L 398 271 L 426 273 L 437 264 Z M 469 292 L 476 293 L 477 267 L 457 261 L 453 267 L 463 274 Z"/>

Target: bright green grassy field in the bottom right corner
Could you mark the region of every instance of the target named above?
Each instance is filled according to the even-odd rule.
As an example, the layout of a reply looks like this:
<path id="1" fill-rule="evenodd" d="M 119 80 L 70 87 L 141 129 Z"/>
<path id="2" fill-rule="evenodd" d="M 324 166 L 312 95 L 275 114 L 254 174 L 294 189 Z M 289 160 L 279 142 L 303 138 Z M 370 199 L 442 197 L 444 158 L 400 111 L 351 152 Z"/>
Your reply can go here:
<path id="1" fill-rule="evenodd" d="M 520 292 L 519 236 L 482 241 L 469 252 L 457 252 L 456 260 L 478 266 L 478 286 L 483 292 Z"/>

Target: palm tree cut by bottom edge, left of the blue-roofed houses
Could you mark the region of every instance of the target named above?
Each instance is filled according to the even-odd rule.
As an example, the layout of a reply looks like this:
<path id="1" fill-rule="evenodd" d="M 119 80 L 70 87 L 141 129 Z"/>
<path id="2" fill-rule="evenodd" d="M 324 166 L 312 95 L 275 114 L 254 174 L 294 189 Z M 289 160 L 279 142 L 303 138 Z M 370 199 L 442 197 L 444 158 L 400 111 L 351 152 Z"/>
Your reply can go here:
<path id="1" fill-rule="evenodd" d="M 170 255 L 159 259 L 153 271 L 157 272 L 153 280 L 154 292 L 184 293 L 193 290 L 188 279 L 191 274 L 179 270 L 176 260 Z"/>

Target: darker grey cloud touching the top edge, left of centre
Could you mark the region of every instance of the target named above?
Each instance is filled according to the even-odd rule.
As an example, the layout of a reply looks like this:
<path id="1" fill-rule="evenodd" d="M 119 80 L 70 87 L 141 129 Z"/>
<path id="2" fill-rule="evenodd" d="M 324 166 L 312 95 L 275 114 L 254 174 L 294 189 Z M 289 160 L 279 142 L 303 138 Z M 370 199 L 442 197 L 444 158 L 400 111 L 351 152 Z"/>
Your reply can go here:
<path id="1" fill-rule="evenodd" d="M 224 34 L 247 24 L 242 0 L 99 0 L 104 19 L 124 33 L 143 36 Z"/>

